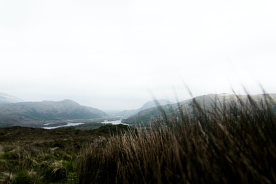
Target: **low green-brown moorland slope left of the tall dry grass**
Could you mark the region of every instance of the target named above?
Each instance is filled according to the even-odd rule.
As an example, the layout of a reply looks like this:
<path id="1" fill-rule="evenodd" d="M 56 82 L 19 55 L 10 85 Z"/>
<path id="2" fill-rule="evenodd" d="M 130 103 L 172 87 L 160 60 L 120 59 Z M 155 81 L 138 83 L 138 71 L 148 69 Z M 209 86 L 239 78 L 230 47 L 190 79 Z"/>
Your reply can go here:
<path id="1" fill-rule="evenodd" d="M 117 130 L 124 131 L 126 126 L 103 125 L 95 130 L 0 128 L 0 183 L 79 183 L 82 147 L 105 143 Z"/>

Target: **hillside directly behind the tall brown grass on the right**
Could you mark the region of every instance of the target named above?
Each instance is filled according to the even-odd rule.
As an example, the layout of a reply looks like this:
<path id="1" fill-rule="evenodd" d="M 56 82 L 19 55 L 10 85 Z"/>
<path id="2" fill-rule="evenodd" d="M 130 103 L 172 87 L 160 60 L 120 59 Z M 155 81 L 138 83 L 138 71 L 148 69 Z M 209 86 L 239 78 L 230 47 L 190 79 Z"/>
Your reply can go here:
<path id="1" fill-rule="evenodd" d="M 251 99 L 255 105 L 261 108 L 266 104 L 266 102 L 268 102 L 269 105 L 273 106 L 273 110 L 276 113 L 276 94 L 255 94 L 250 95 L 249 98 L 248 95 L 207 94 L 186 101 L 181 101 L 179 103 L 161 105 L 159 108 L 155 107 L 142 110 L 138 114 L 128 117 L 128 119 L 123 119 L 122 123 L 128 123 L 131 125 L 143 123 L 144 125 L 147 125 L 157 119 L 163 118 L 164 112 L 168 117 L 172 116 L 172 114 L 179 113 L 179 107 L 186 114 L 195 114 L 197 113 L 196 110 L 199 110 L 199 108 L 204 110 L 204 112 L 214 112 L 215 110 L 215 113 L 221 113 L 224 108 L 230 107 L 230 105 L 237 105 L 237 107 L 241 107 L 241 103 L 244 105 L 250 105 Z"/>

